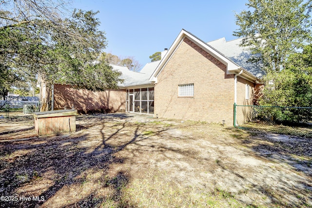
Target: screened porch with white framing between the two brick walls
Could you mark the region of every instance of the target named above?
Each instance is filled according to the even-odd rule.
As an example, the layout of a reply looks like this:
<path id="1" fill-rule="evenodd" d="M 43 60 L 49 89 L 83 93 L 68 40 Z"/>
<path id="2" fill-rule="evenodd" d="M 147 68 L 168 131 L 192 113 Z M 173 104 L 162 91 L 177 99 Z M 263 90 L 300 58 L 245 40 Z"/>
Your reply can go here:
<path id="1" fill-rule="evenodd" d="M 126 90 L 126 112 L 154 113 L 154 87 Z"/>

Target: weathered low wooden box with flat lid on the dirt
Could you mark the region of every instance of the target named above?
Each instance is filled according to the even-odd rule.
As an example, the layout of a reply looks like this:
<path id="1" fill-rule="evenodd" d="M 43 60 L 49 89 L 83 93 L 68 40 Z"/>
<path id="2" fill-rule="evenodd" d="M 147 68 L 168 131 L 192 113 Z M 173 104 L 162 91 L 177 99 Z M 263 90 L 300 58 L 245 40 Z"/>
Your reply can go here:
<path id="1" fill-rule="evenodd" d="M 39 136 L 63 132 L 76 132 L 77 110 L 34 113 L 35 130 Z"/>

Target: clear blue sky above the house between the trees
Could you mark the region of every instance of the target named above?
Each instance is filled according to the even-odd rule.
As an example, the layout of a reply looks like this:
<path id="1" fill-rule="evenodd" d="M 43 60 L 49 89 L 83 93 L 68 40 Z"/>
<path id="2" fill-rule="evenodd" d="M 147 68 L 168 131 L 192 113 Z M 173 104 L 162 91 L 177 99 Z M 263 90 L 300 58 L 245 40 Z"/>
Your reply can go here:
<path id="1" fill-rule="evenodd" d="M 211 41 L 235 39 L 234 14 L 247 9 L 248 0 L 74 0 L 72 6 L 99 11 L 105 31 L 105 52 L 133 56 L 142 67 L 149 56 L 170 48 L 181 29 Z"/>

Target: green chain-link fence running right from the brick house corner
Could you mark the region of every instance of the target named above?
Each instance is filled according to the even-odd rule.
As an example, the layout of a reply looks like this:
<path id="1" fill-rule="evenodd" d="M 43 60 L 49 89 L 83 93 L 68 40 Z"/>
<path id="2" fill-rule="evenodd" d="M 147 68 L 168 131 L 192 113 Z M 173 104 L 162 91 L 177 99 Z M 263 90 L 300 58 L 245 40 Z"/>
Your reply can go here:
<path id="1" fill-rule="evenodd" d="M 312 108 L 234 104 L 234 126 L 244 126 L 248 122 L 262 122 L 269 125 L 312 123 Z"/>

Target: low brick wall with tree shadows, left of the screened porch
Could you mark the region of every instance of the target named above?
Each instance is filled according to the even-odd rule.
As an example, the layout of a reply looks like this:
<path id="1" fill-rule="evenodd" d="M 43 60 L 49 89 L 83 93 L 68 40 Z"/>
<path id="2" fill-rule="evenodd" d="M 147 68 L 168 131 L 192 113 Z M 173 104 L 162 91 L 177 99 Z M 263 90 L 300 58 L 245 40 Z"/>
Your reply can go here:
<path id="1" fill-rule="evenodd" d="M 70 85 L 54 85 L 54 110 L 62 110 L 64 106 L 72 106 L 79 113 L 115 113 L 125 112 L 125 90 L 106 90 L 94 92 L 84 89 L 75 89 Z"/>

